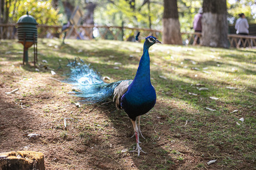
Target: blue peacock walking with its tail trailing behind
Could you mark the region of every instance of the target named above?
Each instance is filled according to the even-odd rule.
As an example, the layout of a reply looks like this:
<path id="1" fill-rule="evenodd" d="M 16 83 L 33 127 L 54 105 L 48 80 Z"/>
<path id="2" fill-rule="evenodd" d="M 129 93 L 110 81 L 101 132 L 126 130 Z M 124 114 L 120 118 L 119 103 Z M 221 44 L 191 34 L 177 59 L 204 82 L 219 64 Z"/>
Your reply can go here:
<path id="1" fill-rule="evenodd" d="M 135 39 L 138 41 L 140 33 Z M 139 61 L 139 67 L 133 80 L 121 80 L 113 83 L 105 83 L 101 76 L 86 65 L 82 59 L 75 59 L 69 62 L 71 71 L 66 82 L 72 83 L 78 89 L 76 96 L 82 97 L 83 103 L 100 103 L 113 97 L 115 107 L 124 109 L 133 124 L 134 135 L 136 138 L 136 149 L 130 152 L 143 152 L 139 146 L 139 135 L 141 133 L 141 116 L 152 109 L 156 103 L 155 88 L 150 80 L 150 56 L 148 49 L 156 43 L 162 44 L 154 36 L 144 38 L 143 54 Z M 137 125 L 138 121 L 138 125 Z M 133 135 L 133 137 L 134 137 Z M 143 137 L 144 138 L 144 137 Z"/>

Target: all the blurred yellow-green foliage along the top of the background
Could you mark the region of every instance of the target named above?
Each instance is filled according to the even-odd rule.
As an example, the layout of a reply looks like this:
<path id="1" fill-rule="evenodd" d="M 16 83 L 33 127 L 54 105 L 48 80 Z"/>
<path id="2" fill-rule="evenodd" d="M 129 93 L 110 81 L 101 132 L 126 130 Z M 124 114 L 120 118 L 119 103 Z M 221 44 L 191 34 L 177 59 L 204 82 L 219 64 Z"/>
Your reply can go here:
<path id="1" fill-rule="evenodd" d="M 46 0 L 7 0 L 10 3 L 9 20 L 15 23 L 20 16 L 26 14 L 26 11 L 34 16 L 39 24 L 56 25 L 67 22 L 64 14 L 64 7 L 61 1 L 58 2 L 58 8 L 55 10 L 51 1 Z M 80 6 L 85 12 L 85 1 L 69 0 L 74 6 Z M 127 0 L 92 0 L 97 4 L 94 11 L 94 21 L 98 25 L 122 25 L 127 27 L 141 27 L 162 29 L 163 1 L 151 1 L 150 11 L 148 5 L 143 5 L 144 0 L 135 0 L 134 10 L 131 8 Z M 179 11 L 179 20 L 181 32 L 193 31 L 193 18 L 200 7 L 203 0 L 178 0 L 177 6 Z M 143 6 L 142 6 L 143 5 Z M 228 20 L 230 24 L 236 22 L 238 14 L 245 13 L 249 23 L 256 21 L 256 14 L 253 12 L 254 0 L 228 0 Z"/>

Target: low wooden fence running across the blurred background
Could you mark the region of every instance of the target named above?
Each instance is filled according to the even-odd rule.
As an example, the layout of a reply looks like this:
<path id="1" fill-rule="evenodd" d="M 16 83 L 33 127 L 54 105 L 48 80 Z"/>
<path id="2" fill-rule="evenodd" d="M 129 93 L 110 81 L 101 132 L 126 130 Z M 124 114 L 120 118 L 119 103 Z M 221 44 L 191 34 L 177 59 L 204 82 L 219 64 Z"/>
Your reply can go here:
<path id="1" fill-rule="evenodd" d="M 16 39 L 17 31 L 16 24 L 0 24 L 0 39 Z M 40 38 L 61 38 L 64 33 L 61 32 L 61 26 L 59 25 L 38 25 L 38 37 Z M 152 35 L 158 37 L 159 40 L 162 39 L 162 31 L 156 29 L 146 29 L 146 28 L 130 28 L 130 27 L 117 27 L 117 26 L 95 26 L 95 25 L 79 25 L 77 28 L 73 29 L 71 33 L 72 39 L 85 39 L 92 40 L 94 38 L 109 39 L 109 40 L 124 40 L 133 41 L 134 33 L 141 31 L 143 35 Z M 93 33 L 94 32 L 94 33 Z M 97 37 L 94 37 L 94 34 Z M 181 33 L 183 38 L 183 44 L 186 45 L 198 45 L 201 38 L 201 33 Z M 246 36 L 246 35 L 228 35 L 230 47 L 233 48 L 252 48 L 256 46 L 256 36 Z"/>

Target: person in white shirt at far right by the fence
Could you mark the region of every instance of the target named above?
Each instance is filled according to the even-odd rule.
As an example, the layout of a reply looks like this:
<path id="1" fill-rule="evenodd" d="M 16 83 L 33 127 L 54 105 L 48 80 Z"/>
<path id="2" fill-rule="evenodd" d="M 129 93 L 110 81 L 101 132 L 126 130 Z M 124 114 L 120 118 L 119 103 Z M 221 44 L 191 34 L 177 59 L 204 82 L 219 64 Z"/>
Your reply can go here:
<path id="1" fill-rule="evenodd" d="M 245 18 L 245 14 L 239 14 L 240 18 L 237 19 L 235 29 L 237 29 L 237 34 L 249 35 L 249 24 Z"/>

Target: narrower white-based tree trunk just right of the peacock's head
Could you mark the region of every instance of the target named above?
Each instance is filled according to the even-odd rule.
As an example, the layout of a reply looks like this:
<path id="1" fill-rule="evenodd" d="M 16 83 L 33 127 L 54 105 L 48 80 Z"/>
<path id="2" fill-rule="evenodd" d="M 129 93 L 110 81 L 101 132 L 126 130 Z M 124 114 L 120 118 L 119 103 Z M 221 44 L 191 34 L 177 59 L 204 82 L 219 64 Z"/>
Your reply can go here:
<path id="1" fill-rule="evenodd" d="M 164 44 L 182 44 L 177 0 L 164 0 L 163 42 Z"/>

